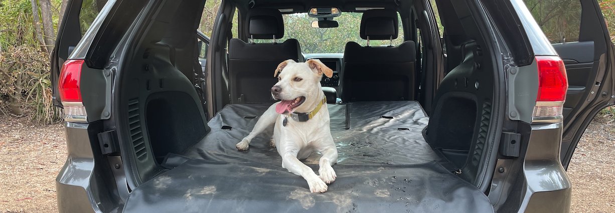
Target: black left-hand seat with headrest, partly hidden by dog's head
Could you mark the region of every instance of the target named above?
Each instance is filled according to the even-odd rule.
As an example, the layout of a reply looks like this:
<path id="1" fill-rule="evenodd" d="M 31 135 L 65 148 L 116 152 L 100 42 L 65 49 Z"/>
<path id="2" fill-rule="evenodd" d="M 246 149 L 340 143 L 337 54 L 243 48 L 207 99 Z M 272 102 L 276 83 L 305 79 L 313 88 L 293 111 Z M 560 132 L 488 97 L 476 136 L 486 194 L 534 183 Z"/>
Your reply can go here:
<path id="1" fill-rule="evenodd" d="M 272 103 L 269 90 L 277 82 L 273 72 L 282 61 L 303 61 L 301 47 L 296 39 L 274 43 L 274 39 L 284 37 L 284 22 L 277 9 L 250 9 L 246 23 L 251 39 L 270 39 L 271 43 L 229 41 L 231 103 Z"/>

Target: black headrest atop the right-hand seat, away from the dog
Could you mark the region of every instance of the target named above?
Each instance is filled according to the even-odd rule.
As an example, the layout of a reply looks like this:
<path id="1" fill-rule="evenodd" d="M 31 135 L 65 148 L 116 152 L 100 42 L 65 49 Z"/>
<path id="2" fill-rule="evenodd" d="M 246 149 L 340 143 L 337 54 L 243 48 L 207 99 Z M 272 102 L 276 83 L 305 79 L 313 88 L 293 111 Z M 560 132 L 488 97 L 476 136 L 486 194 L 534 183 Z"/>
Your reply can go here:
<path id="1" fill-rule="evenodd" d="M 363 12 L 360 35 L 362 39 L 389 40 L 397 39 L 399 28 L 397 12 L 391 9 L 374 9 Z"/>

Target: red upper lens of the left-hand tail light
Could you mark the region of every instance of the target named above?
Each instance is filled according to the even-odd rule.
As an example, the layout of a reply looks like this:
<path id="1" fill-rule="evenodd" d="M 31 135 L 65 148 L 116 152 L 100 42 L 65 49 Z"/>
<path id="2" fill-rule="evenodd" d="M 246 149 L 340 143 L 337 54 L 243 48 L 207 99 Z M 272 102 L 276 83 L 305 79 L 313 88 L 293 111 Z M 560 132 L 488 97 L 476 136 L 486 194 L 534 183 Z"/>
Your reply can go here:
<path id="1" fill-rule="evenodd" d="M 62 102 L 81 102 L 81 67 L 84 60 L 67 60 L 60 71 L 58 91 Z"/>

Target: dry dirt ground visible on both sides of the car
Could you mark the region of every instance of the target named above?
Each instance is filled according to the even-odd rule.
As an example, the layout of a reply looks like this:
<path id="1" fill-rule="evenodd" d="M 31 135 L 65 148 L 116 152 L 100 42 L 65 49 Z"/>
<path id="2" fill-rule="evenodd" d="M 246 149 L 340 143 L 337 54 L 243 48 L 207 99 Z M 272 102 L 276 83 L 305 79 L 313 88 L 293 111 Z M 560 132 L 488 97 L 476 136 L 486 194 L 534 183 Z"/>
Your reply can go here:
<path id="1" fill-rule="evenodd" d="M 55 177 L 66 160 L 61 123 L 0 118 L 0 213 L 57 212 Z M 615 212 L 615 122 L 598 115 L 568 168 L 571 212 Z"/>

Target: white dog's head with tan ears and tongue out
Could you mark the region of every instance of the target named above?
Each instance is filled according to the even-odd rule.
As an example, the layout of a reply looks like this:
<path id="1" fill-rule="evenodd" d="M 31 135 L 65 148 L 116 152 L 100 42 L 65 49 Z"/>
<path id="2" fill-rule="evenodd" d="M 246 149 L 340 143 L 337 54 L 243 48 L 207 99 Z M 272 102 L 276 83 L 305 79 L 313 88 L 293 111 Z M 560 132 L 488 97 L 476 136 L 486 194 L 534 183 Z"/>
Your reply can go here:
<path id="1" fill-rule="evenodd" d="M 271 88 L 271 95 L 281 102 L 276 106 L 276 112 L 286 114 L 292 112 L 308 112 L 321 101 L 322 74 L 333 76 L 333 71 L 317 59 L 305 63 L 286 60 L 277 66 L 274 77 L 278 82 Z"/>

